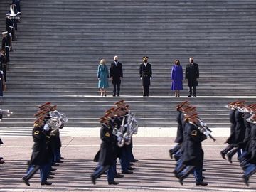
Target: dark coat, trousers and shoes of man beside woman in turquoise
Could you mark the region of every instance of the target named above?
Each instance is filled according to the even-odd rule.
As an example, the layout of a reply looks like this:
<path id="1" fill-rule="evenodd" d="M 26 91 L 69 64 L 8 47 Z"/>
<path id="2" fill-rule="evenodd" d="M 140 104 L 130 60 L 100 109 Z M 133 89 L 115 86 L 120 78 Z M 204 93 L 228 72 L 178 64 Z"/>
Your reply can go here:
<path id="1" fill-rule="evenodd" d="M 119 63 L 117 61 L 117 65 L 113 62 L 111 63 L 111 66 L 110 66 L 110 78 L 113 78 L 112 80 L 112 83 L 113 83 L 113 87 L 114 87 L 114 90 L 113 90 L 113 95 L 116 95 L 116 92 L 117 92 L 117 95 L 119 96 L 120 94 L 120 84 L 121 84 L 121 78 L 123 77 L 123 74 L 122 74 L 122 63 Z M 117 87 L 117 89 L 116 89 Z"/>

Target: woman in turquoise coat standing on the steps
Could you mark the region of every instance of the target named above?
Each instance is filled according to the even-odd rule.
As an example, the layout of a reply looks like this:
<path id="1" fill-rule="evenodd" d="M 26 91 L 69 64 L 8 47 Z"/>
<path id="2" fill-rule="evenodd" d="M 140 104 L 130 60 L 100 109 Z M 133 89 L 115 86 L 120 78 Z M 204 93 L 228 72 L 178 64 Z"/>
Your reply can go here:
<path id="1" fill-rule="evenodd" d="M 106 89 L 109 87 L 108 78 L 110 78 L 110 75 L 108 72 L 105 59 L 100 60 L 100 65 L 98 66 L 97 70 L 97 78 L 99 80 L 98 88 L 100 89 L 100 95 L 107 96 Z"/>

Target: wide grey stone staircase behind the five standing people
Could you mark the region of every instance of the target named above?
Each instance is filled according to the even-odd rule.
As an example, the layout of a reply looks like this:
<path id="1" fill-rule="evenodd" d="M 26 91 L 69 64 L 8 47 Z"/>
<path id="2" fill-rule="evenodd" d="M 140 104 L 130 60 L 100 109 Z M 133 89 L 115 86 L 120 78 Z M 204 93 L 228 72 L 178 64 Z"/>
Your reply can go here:
<path id="1" fill-rule="evenodd" d="M 0 2 L 1 29 L 8 2 Z M 141 127 L 176 127 L 175 106 L 187 97 L 173 97 L 171 65 L 178 58 L 185 70 L 191 56 L 200 68 L 191 103 L 209 127 L 229 127 L 227 102 L 256 102 L 255 8 L 252 0 L 22 1 L 1 106 L 14 115 L 3 119 L 0 134 L 31 134 L 36 105 L 46 101 L 68 115 L 67 127 L 98 127 L 119 99 Z M 124 68 L 122 97 L 99 97 L 97 65 L 105 58 L 110 66 L 114 55 Z M 153 68 L 146 98 L 138 74 L 144 55 Z"/>

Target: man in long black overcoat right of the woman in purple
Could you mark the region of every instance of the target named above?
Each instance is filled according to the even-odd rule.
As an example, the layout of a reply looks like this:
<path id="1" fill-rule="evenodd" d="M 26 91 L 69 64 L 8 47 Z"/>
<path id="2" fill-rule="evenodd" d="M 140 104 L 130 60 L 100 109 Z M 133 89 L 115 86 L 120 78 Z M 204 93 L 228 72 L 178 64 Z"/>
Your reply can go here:
<path id="1" fill-rule="evenodd" d="M 193 62 L 193 58 L 189 58 L 189 64 L 186 65 L 186 73 L 185 79 L 188 80 L 188 87 L 189 87 L 189 95 L 192 95 L 192 87 L 193 87 L 193 97 L 196 97 L 196 86 L 198 86 L 198 79 L 199 79 L 199 68 L 198 64 Z"/>

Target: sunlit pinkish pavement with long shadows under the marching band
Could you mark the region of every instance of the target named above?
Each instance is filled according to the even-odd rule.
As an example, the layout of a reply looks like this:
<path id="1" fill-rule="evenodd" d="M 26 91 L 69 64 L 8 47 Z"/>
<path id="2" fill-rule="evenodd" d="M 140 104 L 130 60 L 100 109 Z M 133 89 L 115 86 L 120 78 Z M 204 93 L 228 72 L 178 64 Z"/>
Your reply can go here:
<path id="1" fill-rule="evenodd" d="M 63 137 L 62 155 L 65 162 L 55 171 L 53 186 L 41 186 L 39 174 L 31 179 L 28 187 L 21 182 L 26 172 L 26 161 L 31 156 L 31 137 L 4 137 L 0 148 L 5 164 L 1 165 L 0 191 L 255 191 L 255 176 L 250 178 L 250 187 L 242 181 L 242 169 L 235 159 L 233 164 L 220 157 L 225 147 L 225 138 L 217 142 L 207 139 L 203 142 L 205 151 L 203 175 L 208 186 L 196 186 L 193 176 L 189 176 L 183 186 L 172 174 L 175 161 L 168 150 L 174 146 L 173 137 L 134 137 L 134 156 L 139 162 L 134 164 L 134 174 L 116 179 L 118 186 L 107 185 L 106 176 L 97 180 L 94 186 L 90 174 L 96 164 L 92 162 L 100 147 L 98 137 Z M 117 170 L 120 170 L 119 163 Z"/>

